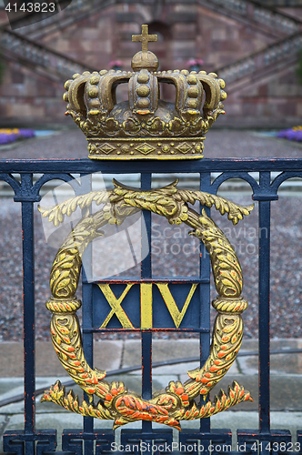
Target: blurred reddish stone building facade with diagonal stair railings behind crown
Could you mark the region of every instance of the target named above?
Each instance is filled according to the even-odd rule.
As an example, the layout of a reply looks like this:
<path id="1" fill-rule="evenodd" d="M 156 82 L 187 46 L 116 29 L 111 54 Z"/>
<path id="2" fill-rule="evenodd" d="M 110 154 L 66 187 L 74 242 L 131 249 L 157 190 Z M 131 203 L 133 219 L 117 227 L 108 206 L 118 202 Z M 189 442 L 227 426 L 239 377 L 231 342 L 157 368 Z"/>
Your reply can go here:
<path id="1" fill-rule="evenodd" d="M 5 11 L 0 13 L 2 125 L 71 125 L 63 117 L 65 80 L 76 72 L 109 69 L 116 60 L 130 69 L 139 50 L 131 35 L 142 24 L 158 35 L 149 48 L 161 70 L 190 69 L 188 60 L 202 59 L 200 69 L 226 80 L 227 116 L 219 126 L 301 123 L 302 0 L 73 0 L 39 22 L 34 15 L 16 19 L 14 31 Z M 173 100 L 174 93 L 174 87 L 163 88 L 162 97 Z M 117 96 L 126 99 L 126 87 Z"/>

